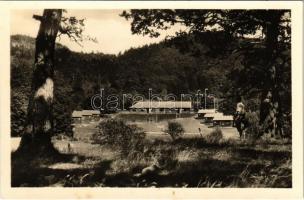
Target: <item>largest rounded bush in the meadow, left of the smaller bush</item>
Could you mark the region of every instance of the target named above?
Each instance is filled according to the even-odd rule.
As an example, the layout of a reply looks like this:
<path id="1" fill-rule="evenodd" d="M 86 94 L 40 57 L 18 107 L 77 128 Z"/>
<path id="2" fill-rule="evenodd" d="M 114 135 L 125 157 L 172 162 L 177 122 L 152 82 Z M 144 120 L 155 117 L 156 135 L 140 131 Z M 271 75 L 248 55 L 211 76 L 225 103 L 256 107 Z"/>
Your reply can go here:
<path id="1" fill-rule="evenodd" d="M 99 144 L 118 147 L 125 155 L 132 151 L 142 151 L 145 133 L 136 125 L 128 125 L 122 120 L 108 119 L 100 122 L 93 140 Z"/>

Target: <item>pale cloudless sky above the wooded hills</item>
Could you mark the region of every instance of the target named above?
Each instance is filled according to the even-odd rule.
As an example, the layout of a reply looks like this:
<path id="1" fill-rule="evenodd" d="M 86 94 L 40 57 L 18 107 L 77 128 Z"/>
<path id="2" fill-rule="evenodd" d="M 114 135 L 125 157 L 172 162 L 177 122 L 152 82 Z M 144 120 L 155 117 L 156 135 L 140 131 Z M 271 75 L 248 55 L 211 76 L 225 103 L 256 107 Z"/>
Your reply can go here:
<path id="1" fill-rule="evenodd" d="M 13 10 L 11 12 L 11 34 L 23 34 L 36 37 L 40 22 L 33 19 L 33 14 L 41 15 L 43 10 Z M 145 44 L 158 43 L 166 35 L 174 35 L 181 28 L 173 27 L 162 31 L 158 38 L 133 35 L 131 21 L 120 17 L 123 10 L 67 10 L 65 16 L 75 16 L 78 19 L 85 18 L 84 35 L 97 39 L 97 43 L 83 41 L 81 46 L 63 36 L 57 42 L 77 52 L 102 52 L 105 54 L 123 53 L 131 47 L 140 47 Z"/>

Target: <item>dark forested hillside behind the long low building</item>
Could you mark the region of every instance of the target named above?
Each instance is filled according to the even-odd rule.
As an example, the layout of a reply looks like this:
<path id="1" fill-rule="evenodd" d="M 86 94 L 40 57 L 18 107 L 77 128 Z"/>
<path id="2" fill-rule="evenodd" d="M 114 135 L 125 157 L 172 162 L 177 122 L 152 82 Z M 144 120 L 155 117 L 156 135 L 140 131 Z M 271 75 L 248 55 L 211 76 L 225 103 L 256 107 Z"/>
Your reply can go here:
<path id="1" fill-rule="evenodd" d="M 259 39 L 231 38 L 222 32 L 205 32 L 200 42 L 181 36 L 159 44 L 131 48 L 118 55 L 73 52 L 57 44 L 55 55 L 55 132 L 71 132 L 71 113 L 91 109 L 91 97 L 100 88 L 105 95 L 143 94 L 148 89 L 161 96 L 196 94 L 208 88 L 221 99 L 220 110 L 234 111 L 236 96 L 258 112 L 265 80 L 264 46 Z M 283 112 L 291 110 L 290 44 L 281 44 L 289 57 L 280 73 Z M 249 49 L 249 50 L 248 50 Z M 12 136 L 24 126 L 31 88 L 35 39 L 11 36 Z M 288 59 L 287 59 L 288 60 Z M 245 67 L 246 66 L 246 67 Z M 130 104 L 129 104 L 130 105 Z"/>

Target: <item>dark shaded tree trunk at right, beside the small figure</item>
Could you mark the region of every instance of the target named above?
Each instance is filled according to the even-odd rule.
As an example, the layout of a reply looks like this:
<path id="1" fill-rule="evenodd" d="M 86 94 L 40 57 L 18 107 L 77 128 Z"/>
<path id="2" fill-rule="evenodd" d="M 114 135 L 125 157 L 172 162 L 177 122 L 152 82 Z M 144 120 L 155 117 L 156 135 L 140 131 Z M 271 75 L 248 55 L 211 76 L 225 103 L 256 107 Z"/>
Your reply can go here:
<path id="1" fill-rule="evenodd" d="M 279 95 L 279 72 L 280 64 L 276 62 L 278 57 L 279 22 L 281 14 L 279 11 L 269 12 L 269 21 L 265 25 L 266 55 L 269 58 L 268 80 L 264 85 L 261 98 L 260 124 L 263 132 L 274 135 L 282 135 L 282 110 Z"/>

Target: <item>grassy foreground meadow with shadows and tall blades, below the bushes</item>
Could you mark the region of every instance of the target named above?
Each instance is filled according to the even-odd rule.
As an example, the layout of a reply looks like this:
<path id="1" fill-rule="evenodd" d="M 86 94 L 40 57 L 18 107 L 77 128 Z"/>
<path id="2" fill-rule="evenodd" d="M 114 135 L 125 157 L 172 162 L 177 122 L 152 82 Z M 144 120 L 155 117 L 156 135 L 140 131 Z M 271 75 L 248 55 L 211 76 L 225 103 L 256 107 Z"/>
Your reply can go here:
<path id="1" fill-rule="evenodd" d="M 96 125 L 77 125 L 73 138 L 53 137 L 59 156 L 12 153 L 12 186 L 292 187 L 287 139 L 240 140 L 224 137 L 225 128 L 209 128 L 202 136 L 174 141 L 145 134 L 122 152 L 118 144 L 94 140 Z"/>

